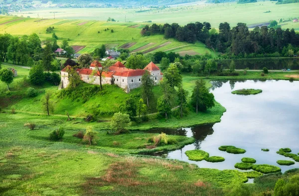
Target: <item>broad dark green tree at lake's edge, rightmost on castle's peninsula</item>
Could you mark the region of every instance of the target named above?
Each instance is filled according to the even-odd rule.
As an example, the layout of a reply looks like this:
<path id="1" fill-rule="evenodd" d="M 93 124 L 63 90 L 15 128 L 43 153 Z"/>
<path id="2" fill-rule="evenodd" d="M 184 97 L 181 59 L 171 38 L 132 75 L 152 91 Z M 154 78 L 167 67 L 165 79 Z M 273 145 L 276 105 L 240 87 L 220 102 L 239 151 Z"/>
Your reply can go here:
<path id="1" fill-rule="evenodd" d="M 209 93 L 202 79 L 195 82 L 191 96 L 191 105 L 196 109 L 196 113 L 198 113 L 198 110 L 206 111 L 207 108 L 215 106 L 214 95 Z"/>

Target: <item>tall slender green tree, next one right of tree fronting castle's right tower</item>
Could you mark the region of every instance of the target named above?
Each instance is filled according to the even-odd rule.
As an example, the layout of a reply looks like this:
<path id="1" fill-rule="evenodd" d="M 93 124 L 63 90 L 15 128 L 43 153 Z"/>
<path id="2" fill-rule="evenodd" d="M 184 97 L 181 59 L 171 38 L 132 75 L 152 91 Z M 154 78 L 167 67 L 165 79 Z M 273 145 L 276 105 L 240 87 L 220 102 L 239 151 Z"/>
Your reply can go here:
<path id="1" fill-rule="evenodd" d="M 171 111 L 171 99 L 173 98 L 174 89 L 170 86 L 167 79 L 160 82 L 160 88 L 162 91 L 162 96 L 158 98 L 157 110 L 160 113 L 165 114 L 165 118 L 168 118 L 169 112 Z"/>

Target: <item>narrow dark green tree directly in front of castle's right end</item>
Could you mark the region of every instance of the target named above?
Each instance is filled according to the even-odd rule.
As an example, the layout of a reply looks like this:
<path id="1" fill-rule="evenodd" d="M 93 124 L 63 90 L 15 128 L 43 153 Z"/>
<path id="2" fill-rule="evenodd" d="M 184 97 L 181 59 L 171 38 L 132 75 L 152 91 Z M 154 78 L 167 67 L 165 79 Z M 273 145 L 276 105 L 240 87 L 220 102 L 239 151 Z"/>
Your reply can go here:
<path id="1" fill-rule="evenodd" d="M 153 80 L 151 79 L 151 75 L 148 71 L 145 71 L 142 76 L 141 83 L 142 98 L 147 101 L 147 105 L 149 107 L 149 100 L 153 98 Z"/>

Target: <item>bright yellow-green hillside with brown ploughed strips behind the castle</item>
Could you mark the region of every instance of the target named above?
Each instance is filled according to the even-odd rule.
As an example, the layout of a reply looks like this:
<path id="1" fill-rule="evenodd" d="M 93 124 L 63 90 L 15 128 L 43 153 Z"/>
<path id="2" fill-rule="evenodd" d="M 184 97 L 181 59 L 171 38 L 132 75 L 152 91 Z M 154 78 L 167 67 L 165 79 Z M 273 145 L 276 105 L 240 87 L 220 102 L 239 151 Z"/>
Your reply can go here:
<path id="1" fill-rule="evenodd" d="M 131 51 L 138 50 L 139 52 L 145 52 L 165 42 L 170 42 L 152 52 L 189 51 L 195 54 L 204 55 L 208 53 L 211 54 L 212 57 L 216 56 L 215 52 L 209 50 L 200 42 L 189 44 L 186 42 L 178 42 L 174 39 L 166 40 L 163 35 L 143 37 L 140 32 L 145 23 L 105 22 L 82 19 L 19 19 L 20 18 L 12 16 L 0 17 L 0 24 L 2 23 L 2 25 L 0 25 L 0 34 L 9 33 L 14 36 L 22 36 L 36 33 L 41 40 L 44 40 L 52 36 L 52 33 L 46 33 L 46 28 L 54 26 L 53 32 L 58 36 L 58 44 L 61 44 L 63 39 L 68 39 L 70 45 L 85 46 L 79 53 L 91 53 L 96 47 L 100 47 L 102 44 L 105 44 L 107 48 L 117 48 L 126 43 L 136 43 L 128 48 Z M 136 28 L 132 28 L 132 26 L 136 26 Z M 105 29 L 109 30 L 105 31 Z M 113 33 L 111 29 L 114 30 Z M 151 43 L 149 47 L 141 48 L 149 43 Z"/>

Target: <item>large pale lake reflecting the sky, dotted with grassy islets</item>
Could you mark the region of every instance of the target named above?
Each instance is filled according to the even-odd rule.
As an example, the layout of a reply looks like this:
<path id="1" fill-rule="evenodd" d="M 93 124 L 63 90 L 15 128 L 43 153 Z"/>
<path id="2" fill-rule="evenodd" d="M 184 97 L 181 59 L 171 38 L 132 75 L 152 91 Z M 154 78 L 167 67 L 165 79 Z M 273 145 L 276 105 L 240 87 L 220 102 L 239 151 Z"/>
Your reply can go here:
<path id="1" fill-rule="evenodd" d="M 194 163 L 200 168 L 235 169 L 234 165 L 243 157 L 255 158 L 256 164 L 278 166 L 282 172 L 299 168 L 296 162 L 292 166 L 280 166 L 277 160 L 292 160 L 276 154 L 279 148 L 291 148 L 299 153 L 299 82 L 289 81 L 226 81 L 213 82 L 211 92 L 227 111 L 221 122 L 195 128 L 182 128 L 177 131 L 163 132 L 194 137 L 196 142 L 180 150 L 160 152 L 156 156 L 178 159 Z M 231 94 L 232 90 L 243 88 L 262 89 L 258 95 L 242 96 Z M 161 132 L 161 130 L 156 130 Z M 233 145 L 245 149 L 245 154 L 229 154 L 218 150 L 219 146 Z M 261 148 L 269 148 L 263 152 Z M 210 156 L 222 156 L 224 162 L 190 161 L 185 151 L 201 149 Z"/>

